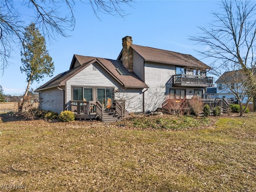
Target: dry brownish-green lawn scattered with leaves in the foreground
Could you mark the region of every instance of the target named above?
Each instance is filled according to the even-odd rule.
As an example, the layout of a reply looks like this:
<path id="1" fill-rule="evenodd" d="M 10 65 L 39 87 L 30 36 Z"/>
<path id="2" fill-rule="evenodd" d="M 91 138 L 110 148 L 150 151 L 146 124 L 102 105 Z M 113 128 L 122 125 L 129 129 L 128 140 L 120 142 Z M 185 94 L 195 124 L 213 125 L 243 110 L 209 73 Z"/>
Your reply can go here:
<path id="1" fill-rule="evenodd" d="M 0 192 L 256 191 L 256 114 L 119 125 L 2 117 Z"/>

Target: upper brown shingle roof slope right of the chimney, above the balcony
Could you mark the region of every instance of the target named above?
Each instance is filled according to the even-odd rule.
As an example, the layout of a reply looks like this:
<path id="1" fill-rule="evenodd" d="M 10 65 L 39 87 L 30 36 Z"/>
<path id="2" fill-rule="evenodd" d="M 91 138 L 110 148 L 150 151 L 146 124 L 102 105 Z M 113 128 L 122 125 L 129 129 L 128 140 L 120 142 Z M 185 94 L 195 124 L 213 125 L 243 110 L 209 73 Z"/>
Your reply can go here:
<path id="1" fill-rule="evenodd" d="M 210 66 L 204 64 L 197 58 L 188 54 L 181 54 L 177 52 L 156 49 L 140 45 L 131 46 L 134 51 L 136 51 L 145 61 L 157 62 L 164 64 L 173 64 L 178 66 L 191 67 L 194 69 L 211 69 Z"/>

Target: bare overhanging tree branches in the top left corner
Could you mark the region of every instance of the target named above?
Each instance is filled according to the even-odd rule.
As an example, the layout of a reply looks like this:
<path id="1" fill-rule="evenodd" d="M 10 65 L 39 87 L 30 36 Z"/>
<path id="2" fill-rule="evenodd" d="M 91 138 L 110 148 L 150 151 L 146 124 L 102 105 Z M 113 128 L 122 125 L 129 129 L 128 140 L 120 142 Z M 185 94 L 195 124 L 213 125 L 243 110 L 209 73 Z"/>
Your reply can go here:
<path id="1" fill-rule="evenodd" d="M 84 6 L 91 6 L 97 18 L 98 12 L 124 17 L 123 5 L 130 5 L 133 0 L 90 0 L 79 1 Z M 75 0 L 14 0 L 0 1 L 0 68 L 8 66 L 8 59 L 13 51 L 13 43 L 22 45 L 24 26 L 34 22 L 40 32 L 54 40 L 57 36 L 68 37 L 74 30 Z M 22 6 L 23 14 L 20 11 Z M 62 11 L 61 10 L 66 10 Z M 26 20 L 26 21 L 25 21 Z M 21 46 L 22 48 L 23 46 Z"/>

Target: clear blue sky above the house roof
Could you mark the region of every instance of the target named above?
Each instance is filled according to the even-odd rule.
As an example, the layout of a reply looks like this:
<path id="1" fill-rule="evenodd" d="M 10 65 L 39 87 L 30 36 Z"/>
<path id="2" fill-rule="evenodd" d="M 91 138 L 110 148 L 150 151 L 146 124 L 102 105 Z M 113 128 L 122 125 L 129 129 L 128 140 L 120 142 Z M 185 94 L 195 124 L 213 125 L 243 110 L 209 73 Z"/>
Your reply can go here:
<path id="1" fill-rule="evenodd" d="M 201 31 L 198 26 L 206 26 L 212 20 L 212 12 L 219 12 L 220 1 L 135 1 L 133 7 L 123 7 L 124 18 L 101 14 L 96 18 L 90 5 L 76 1 L 75 30 L 71 37 L 59 37 L 47 42 L 47 50 L 54 61 L 54 76 L 69 69 L 74 54 L 116 59 L 122 49 L 122 38 L 132 36 L 133 44 L 170 50 L 192 56 L 210 64 L 196 50 L 207 47 L 188 40 Z M 22 7 L 21 7 L 22 8 Z M 30 21 L 28 21 L 30 23 Z M 26 88 L 26 76 L 20 72 L 20 51 L 12 53 L 10 66 L 4 70 L 0 85 L 4 93 L 23 93 Z M 52 77 L 51 77 L 52 78 Z M 38 88 L 50 80 L 45 77 L 30 87 Z"/>

